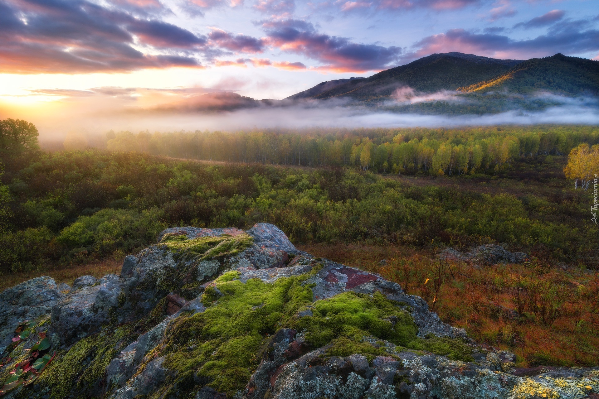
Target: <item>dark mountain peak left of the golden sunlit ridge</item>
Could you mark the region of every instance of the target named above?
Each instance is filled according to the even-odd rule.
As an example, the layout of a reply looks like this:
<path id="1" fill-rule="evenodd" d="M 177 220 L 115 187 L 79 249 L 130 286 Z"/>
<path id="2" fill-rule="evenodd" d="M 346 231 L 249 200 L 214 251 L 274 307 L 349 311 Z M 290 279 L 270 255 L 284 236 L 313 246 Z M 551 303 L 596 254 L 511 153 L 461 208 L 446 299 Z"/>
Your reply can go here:
<path id="1" fill-rule="evenodd" d="M 371 101 L 389 98 L 398 87 L 403 86 L 423 93 L 456 90 L 505 74 L 521 62 L 455 52 L 432 54 L 368 78 L 323 82 L 288 99 L 350 97 Z"/>

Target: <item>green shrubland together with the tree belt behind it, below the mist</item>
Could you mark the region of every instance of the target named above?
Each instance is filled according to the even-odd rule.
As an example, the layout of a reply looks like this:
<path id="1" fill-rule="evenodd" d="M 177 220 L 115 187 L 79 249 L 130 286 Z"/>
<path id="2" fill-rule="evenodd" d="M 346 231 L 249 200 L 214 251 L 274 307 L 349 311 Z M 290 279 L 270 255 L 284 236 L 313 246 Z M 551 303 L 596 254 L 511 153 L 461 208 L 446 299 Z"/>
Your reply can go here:
<path id="1" fill-rule="evenodd" d="M 584 126 L 109 132 L 108 151 L 46 153 L 34 136 L 3 151 L 2 272 L 119 257 L 168 226 L 260 221 L 277 224 L 298 243 L 503 242 L 544 245 L 561 260 L 589 262 L 597 239 L 585 217 L 590 192 L 570 190 L 573 184 L 559 176 L 564 154 L 580 142 L 588 153 L 586 143 L 598 137 L 596 127 Z M 578 169 L 567 169 L 572 181 L 585 179 Z M 450 184 L 410 184 L 401 180 L 407 172 L 422 179 L 447 175 Z M 590 172 L 584 173 L 588 182 Z M 491 188 L 480 190 L 483 184 Z"/>

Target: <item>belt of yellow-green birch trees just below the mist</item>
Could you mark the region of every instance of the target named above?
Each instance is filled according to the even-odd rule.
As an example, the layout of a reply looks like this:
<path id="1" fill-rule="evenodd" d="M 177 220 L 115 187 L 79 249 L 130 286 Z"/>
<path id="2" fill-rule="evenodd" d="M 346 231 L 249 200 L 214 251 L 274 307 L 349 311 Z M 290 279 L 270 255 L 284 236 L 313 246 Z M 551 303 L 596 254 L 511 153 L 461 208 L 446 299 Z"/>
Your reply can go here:
<path id="1" fill-rule="evenodd" d="M 596 126 L 468 129 L 309 129 L 250 132 L 110 131 L 96 146 L 156 156 L 297 166 L 352 166 L 398 175 L 497 174 L 524 157 L 563 156 L 599 143 Z M 67 149 L 91 143 L 72 133 Z"/>

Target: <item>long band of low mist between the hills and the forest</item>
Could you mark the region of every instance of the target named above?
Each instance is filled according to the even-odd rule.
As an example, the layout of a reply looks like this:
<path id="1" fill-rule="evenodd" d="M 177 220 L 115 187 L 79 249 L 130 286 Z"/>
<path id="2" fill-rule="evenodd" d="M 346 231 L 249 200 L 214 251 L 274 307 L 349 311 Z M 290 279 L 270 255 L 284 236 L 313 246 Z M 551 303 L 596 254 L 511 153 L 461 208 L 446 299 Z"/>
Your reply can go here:
<path id="1" fill-rule="evenodd" d="M 234 111 L 193 111 L 170 108 L 156 111 L 134 108 L 131 102 L 80 100 L 47 103 L 37 108 L 0 106 L 4 117 L 31 121 L 42 141 L 58 141 L 69 132 L 91 135 L 108 130 L 180 131 L 180 130 L 254 130 L 302 129 L 306 127 L 456 127 L 495 124 L 599 124 L 596 98 L 567 98 L 544 95 L 554 104 L 542 111 L 512 109 L 495 114 L 400 113 L 372 106 L 348 106 L 343 102 L 310 102 L 277 106 L 259 103 Z"/>

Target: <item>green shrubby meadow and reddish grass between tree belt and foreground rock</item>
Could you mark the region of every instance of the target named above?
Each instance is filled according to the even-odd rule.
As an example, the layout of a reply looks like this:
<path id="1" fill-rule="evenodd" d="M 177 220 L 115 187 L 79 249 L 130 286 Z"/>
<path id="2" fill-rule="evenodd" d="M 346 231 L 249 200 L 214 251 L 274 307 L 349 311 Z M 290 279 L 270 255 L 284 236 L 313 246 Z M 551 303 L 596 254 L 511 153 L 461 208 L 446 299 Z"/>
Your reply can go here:
<path id="1" fill-rule="evenodd" d="M 515 352 L 520 366 L 599 364 L 592 190 L 575 189 L 564 175 L 564 151 L 595 144 L 597 130 L 531 127 L 528 133 L 519 128 L 518 136 L 514 129 L 481 130 L 480 140 L 509 137 L 515 144 L 500 148 L 512 155 L 494 163 L 487 146 L 476 167 L 468 152 L 462 172 L 456 172 L 459 146 L 474 149 L 482 141 L 470 145 L 476 140 L 466 136 L 476 129 L 451 133 L 470 147 L 447 143 L 443 133 L 442 145 L 458 148 L 458 166 L 439 173 L 418 162 L 388 170 L 357 161 L 308 167 L 98 148 L 4 151 L 0 289 L 39 275 L 70 283 L 79 275 L 118 273 L 125 255 L 154 243 L 166 227 L 247 229 L 264 221 L 298 248 L 400 283 L 444 321 Z M 429 140 L 394 142 L 409 132 L 391 133 L 395 148 Z M 527 137 L 537 144 L 527 147 Z M 543 147 L 549 142 L 553 147 Z M 391 162 L 394 151 L 386 153 Z M 432 158 L 445 150 L 435 151 Z M 467 251 L 485 243 L 527 252 L 529 259 L 479 268 L 436 257 L 447 247 Z"/>

